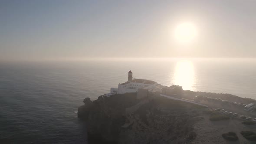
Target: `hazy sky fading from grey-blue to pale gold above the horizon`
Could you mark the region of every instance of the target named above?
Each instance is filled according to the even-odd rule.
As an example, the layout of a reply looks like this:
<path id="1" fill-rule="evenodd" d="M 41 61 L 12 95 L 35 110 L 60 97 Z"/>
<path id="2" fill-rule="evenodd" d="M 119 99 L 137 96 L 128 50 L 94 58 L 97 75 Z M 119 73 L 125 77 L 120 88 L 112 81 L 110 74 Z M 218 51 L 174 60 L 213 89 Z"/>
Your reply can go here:
<path id="1" fill-rule="evenodd" d="M 0 60 L 91 57 L 256 57 L 256 0 L 0 0 Z"/>

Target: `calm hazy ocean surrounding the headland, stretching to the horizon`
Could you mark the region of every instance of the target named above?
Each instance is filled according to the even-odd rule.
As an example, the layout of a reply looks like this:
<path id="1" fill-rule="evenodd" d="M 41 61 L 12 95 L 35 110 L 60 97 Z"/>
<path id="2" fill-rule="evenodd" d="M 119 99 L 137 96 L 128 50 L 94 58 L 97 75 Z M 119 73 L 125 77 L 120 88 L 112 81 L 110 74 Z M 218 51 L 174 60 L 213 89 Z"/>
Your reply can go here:
<path id="1" fill-rule="evenodd" d="M 0 144 L 86 144 L 75 111 L 133 78 L 256 99 L 256 59 L 0 62 Z"/>

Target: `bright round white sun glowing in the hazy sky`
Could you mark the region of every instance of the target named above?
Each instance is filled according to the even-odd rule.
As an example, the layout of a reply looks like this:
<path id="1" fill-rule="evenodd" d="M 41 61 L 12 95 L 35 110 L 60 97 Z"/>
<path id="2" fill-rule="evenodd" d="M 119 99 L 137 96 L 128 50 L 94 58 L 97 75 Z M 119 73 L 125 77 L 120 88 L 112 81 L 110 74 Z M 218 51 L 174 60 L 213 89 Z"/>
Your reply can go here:
<path id="1" fill-rule="evenodd" d="M 174 29 L 174 36 L 181 43 L 193 41 L 196 35 L 197 29 L 192 23 L 181 23 Z"/>

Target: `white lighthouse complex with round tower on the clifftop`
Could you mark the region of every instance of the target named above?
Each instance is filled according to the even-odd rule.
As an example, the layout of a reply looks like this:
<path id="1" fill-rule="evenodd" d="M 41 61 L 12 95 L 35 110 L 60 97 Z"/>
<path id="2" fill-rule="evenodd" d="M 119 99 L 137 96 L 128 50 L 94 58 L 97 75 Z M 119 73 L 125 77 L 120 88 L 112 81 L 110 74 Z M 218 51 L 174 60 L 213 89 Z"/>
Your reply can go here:
<path id="1" fill-rule="evenodd" d="M 118 88 L 111 88 L 112 94 L 124 94 L 127 92 L 138 92 L 138 88 L 151 89 L 156 86 L 157 82 L 146 79 L 132 79 L 131 70 L 128 72 L 128 81 L 118 85 Z"/>

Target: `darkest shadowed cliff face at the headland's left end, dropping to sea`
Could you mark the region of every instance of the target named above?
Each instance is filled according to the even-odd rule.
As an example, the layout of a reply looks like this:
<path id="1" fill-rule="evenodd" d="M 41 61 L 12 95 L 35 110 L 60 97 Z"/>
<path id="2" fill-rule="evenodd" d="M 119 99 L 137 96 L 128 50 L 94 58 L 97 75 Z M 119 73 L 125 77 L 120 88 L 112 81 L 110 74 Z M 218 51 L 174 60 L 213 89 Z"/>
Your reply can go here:
<path id="1" fill-rule="evenodd" d="M 125 124 L 125 108 L 135 105 L 136 93 L 99 96 L 78 108 L 78 117 L 85 121 L 89 142 L 118 143 L 121 126 Z"/>

